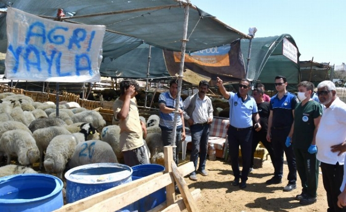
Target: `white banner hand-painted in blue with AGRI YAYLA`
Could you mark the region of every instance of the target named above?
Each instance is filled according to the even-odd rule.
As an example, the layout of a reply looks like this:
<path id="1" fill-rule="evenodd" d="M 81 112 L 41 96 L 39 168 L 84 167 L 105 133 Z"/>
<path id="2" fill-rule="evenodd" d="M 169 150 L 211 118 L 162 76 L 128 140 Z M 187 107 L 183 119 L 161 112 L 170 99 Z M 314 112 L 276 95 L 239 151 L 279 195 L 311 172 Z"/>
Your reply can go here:
<path id="1" fill-rule="evenodd" d="M 105 26 L 43 19 L 8 7 L 5 77 L 41 82 L 100 82 Z"/>

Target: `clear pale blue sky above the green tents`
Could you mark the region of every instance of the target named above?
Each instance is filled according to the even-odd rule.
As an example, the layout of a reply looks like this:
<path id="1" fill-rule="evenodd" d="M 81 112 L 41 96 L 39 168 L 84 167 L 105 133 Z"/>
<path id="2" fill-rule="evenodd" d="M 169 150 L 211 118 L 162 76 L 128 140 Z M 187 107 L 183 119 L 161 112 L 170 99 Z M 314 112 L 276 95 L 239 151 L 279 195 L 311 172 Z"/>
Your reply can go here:
<path id="1" fill-rule="evenodd" d="M 290 34 L 299 61 L 346 62 L 346 0 L 190 0 L 218 20 L 255 37 Z"/>

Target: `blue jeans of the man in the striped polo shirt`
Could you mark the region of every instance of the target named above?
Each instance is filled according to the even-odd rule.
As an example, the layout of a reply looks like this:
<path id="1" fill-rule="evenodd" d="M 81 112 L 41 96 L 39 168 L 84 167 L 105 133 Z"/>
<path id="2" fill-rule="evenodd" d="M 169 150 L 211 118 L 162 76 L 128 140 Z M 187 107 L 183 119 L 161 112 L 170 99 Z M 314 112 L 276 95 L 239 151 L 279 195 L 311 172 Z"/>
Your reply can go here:
<path id="1" fill-rule="evenodd" d="M 175 164 L 178 165 L 179 161 L 179 151 L 182 147 L 182 129 L 177 129 L 176 131 L 176 137 L 175 139 L 172 138 L 173 130 L 172 129 L 163 129 L 161 128 L 161 138 L 163 141 L 163 146 L 177 146 L 176 148 L 173 148 L 173 160 Z"/>

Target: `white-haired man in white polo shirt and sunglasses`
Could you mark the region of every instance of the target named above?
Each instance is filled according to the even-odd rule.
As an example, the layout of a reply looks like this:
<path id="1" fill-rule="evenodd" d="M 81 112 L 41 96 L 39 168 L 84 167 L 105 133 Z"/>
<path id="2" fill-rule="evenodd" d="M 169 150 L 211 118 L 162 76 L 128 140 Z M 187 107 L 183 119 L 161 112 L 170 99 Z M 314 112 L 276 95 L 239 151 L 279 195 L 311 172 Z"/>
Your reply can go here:
<path id="1" fill-rule="evenodd" d="M 337 97 L 333 82 L 320 82 L 317 89 L 319 101 L 325 106 L 316 134 L 316 146 L 323 186 L 327 192 L 327 212 L 346 212 L 346 208 L 338 207 L 346 154 L 346 104 Z M 346 198 L 340 205 L 346 206 Z"/>

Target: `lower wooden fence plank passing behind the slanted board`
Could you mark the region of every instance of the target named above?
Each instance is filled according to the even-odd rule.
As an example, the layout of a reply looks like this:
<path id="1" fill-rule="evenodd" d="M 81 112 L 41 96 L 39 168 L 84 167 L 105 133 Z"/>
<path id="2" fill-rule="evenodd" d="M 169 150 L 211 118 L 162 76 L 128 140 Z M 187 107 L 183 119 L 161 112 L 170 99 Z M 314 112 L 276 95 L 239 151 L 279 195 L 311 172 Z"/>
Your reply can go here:
<path id="1" fill-rule="evenodd" d="M 193 200 L 197 201 L 202 196 L 201 189 L 197 188 L 191 191 L 191 195 L 193 197 Z M 157 207 L 147 212 L 182 212 L 184 209 L 186 209 L 185 203 L 183 201 L 183 198 L 180 198 L 179 200 L 177 200 L 176 203 L 169 205 L 168 207 L 166 207 L 166 202 L 163 202 Z"/>

